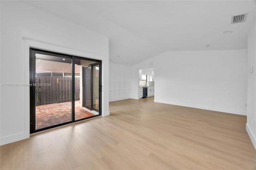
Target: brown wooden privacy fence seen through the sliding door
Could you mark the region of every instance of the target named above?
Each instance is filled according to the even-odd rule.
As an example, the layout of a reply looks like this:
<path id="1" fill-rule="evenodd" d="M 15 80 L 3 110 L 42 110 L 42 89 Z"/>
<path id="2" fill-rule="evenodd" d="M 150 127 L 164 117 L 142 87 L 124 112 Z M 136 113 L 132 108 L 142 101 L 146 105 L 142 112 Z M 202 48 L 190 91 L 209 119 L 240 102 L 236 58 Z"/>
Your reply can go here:
<path id="1" fill-rule="evenodd" d="M 36 77 L 36 105 L 72 101 L 71 77 Z M 80 100 L 80 77 L 75 77 L 75 100 Z"/>

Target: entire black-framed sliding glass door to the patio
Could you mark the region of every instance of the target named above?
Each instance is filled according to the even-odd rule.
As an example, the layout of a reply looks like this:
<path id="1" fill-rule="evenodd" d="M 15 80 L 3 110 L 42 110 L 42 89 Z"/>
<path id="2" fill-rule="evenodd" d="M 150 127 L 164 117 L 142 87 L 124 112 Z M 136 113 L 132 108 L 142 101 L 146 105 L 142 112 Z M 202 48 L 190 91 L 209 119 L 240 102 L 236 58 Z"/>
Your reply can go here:
<path id="1" fill-rule="evenodd" d="M 101 115 L 101 61 L 30 49 L 30 132 Z"/>

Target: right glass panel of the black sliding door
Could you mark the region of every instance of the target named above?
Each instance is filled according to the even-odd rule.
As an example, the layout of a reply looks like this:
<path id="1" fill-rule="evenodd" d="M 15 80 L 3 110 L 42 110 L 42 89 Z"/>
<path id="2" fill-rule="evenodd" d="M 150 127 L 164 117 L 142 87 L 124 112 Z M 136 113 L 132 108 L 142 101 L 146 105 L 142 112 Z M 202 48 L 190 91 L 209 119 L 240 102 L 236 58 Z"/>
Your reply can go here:
<path id="1" fill-rule="evenodd" d="M 94 65 L 99 63 L 85 59 L 75 59 L 75 120 L 86 119 L 99 115 L 99 106 L 93 104 L 99 102 L 99 96 L 94 95 L 94 89 L 99 90 L 99 70 Z M 95 71 L 96 70 L 96 71 Z M 94 76 L 96 73 L 96 76 Z M 95 82 L 95 83 L 94 83 Z M 96 86 L 98 86 L 96 88 Z M 99 92 L 96 92 L 99 95 Z M 96 101 L 98 100 L 98 101 Z"/>

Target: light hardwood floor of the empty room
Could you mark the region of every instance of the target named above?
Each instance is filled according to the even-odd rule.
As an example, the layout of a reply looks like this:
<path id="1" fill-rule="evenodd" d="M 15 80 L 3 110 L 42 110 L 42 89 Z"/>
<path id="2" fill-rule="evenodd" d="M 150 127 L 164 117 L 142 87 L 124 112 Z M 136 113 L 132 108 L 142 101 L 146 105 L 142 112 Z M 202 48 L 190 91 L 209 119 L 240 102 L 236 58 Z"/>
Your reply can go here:
<path id="1" fill-rule="evenodd" d="M 246 117 L 154 103 L 110 103 L 110 116 L 1 146 L 1 170 L 255 170 Z"/>

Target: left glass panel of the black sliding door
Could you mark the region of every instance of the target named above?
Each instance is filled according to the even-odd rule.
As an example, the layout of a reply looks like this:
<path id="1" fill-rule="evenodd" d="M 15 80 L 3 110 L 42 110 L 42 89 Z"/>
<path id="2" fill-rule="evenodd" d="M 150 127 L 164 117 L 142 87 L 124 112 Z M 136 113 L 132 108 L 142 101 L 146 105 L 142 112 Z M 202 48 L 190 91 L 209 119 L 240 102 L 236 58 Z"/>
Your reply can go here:
<path id="1" fill-rule="evenodd" d="M 71 58 L 35 56 L 35 130 L 72 121 Z"/>

